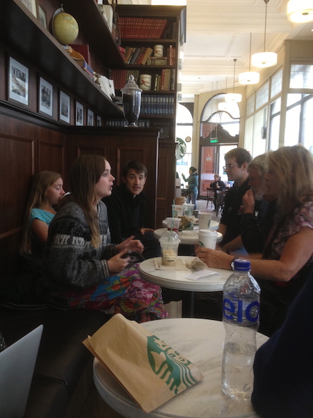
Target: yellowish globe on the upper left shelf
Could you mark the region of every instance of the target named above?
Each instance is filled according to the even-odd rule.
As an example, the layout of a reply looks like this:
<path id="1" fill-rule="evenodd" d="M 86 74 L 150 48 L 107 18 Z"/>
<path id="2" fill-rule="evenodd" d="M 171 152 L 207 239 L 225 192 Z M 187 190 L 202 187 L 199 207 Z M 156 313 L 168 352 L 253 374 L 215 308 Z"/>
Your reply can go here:
<path id="1" fill-rule="evenodd" d="M 58 13 L 52 22 L 54 38 L 62 45 L 74 42 L 79 34 L 77 21 L 65 12 Z"/>

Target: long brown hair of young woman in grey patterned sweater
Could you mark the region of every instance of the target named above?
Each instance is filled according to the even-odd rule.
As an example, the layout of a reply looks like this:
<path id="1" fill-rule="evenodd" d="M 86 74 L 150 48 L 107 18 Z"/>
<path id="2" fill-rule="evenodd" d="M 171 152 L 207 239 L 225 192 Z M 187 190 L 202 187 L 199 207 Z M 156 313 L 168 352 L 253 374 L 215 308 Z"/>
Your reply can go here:
<path id="1" fill-rule="evenodd" d="M 70 189 L 74 199 L 81 206 L 91 231 L 91 244 L 99 248 L 101 244 L 99 219 L 95 209 L 95 184 L 106 169 L 106 159 L 101 155 L 86 154 L 78 157 L 70 169 Z"/>

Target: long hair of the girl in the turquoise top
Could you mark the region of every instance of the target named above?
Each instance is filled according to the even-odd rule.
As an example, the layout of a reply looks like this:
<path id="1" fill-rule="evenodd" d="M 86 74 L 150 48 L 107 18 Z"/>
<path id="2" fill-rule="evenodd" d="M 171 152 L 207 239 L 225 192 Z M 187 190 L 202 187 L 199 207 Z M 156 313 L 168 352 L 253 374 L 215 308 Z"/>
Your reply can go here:
<path id="1" fill-rule="evenodd" d="M 29 218 L 31 216 L 31 210 L 33 208 L 42 208 L 46 203 L 47 188 L 56 182 L 58 178 L 61 178 L 61 174 L 54 171 L 40 171 L 40 173 L 33 176 L 31 183 L 31 192 L 29 194 L 29 200 L 26 203 L 26 210 L 24 215 L 23 232 L 22 232 L 22 245 L 19 250 L 21 254 L 31 254 L 31 240 L 33 234 L 31 232 L 31 225 L 29 224 Z"/>

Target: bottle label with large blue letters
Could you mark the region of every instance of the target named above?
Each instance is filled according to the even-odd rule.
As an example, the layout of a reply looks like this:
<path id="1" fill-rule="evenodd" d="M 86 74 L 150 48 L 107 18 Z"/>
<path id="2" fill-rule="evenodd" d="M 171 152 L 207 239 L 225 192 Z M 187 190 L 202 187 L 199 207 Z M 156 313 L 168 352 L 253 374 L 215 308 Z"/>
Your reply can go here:
<path id="1" fill-rule="evenodd" d="M 259 302 L 254 300 L 248 304 L 244 300 L 234 301 L 225 297 L 223 300 L 223 316 L 225 320 L 236 323 L 255 323 L 259 319 Z"/>

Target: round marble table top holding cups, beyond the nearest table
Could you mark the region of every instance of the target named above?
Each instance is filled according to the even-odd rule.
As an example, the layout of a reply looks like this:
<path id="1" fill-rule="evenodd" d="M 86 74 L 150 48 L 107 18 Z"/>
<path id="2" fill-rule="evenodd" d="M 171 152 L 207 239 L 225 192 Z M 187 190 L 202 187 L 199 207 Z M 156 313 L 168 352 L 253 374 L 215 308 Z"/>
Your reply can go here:
<path id="1" fill-rule="evenodd" d="M 178 258 L 183 258 L 189 263 L 195 259 L 193 256 L 178 256 Z M 157 259 L 161 260 L 161 257 Z M 215 274 L 201 277 L 200 279 L 193 281 L 191 279 L 186 279 L 186 276 L 195 272 L 194 270 L 191 270 L 190 268 L 187 268 L 186 271 L 157 270 L 154 258 L 148 258 L 147 260 L 142 261 L 139 265 L 139 271 L 141 272 L 141 277 L 151 283 L 166 288 L 193 292 L 223 291 L 225 281 L 230 277 L 230 274 L 232 274 L 232 270 L 209 268 L 209 271 L 215 272 Z"/>

